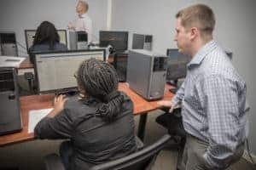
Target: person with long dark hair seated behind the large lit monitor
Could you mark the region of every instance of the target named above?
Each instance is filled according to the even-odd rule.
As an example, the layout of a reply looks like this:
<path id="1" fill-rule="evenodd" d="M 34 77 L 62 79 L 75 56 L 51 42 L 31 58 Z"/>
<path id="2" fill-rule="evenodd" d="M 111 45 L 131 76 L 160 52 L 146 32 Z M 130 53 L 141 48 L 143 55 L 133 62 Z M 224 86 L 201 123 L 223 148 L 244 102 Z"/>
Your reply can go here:
<path id="1" fill-rule="evenodd" d="M 33 52 L 66 51 L 67 46 L 60 42 L 60 36 L 55 26 L 44 21 L 38 26 L 29 54 Z"/>

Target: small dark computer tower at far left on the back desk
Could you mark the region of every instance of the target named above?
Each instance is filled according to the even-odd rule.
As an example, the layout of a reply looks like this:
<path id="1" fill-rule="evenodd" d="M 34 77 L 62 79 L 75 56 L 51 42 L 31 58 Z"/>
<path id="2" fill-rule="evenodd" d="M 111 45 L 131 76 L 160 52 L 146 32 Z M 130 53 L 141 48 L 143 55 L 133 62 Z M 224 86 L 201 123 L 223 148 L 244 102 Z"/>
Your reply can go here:
<path id="1" fill-rule="evenodd" d="M 18 56 L 15 32 L 0 32 L 1 55 Z"/>

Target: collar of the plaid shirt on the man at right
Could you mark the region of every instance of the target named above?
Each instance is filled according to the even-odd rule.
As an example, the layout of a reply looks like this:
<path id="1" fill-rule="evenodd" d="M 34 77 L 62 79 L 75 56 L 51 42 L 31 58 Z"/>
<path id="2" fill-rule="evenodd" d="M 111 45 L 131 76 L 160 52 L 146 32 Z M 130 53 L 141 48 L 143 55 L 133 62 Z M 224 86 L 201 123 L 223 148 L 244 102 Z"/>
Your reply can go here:
<path id="1" fill-rule="evenodd" d="M 191 59 L 191 61 L 188 64 L 188 67 L 192 65 L 201 65 L 201 61 L 205 59 L 207 54 L 209 54 L 212 49 L 216 48 L 217 44 L 214 40 L 211 40 L 210 42 L 207 42 Z"/>

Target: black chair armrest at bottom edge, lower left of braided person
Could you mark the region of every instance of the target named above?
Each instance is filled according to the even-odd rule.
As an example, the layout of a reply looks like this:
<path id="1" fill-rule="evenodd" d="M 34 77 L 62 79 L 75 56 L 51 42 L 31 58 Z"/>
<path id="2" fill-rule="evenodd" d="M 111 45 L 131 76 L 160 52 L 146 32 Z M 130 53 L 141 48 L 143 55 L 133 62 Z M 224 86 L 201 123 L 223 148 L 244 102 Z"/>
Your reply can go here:
<path id="1" fill-rule="evenodd" d="M 60 156 L 56 154 L 50 154 L 48 156 L 45 156 L 44 160 L 46 170 L 65 170 L 65 167 L 61 162 Z"/>

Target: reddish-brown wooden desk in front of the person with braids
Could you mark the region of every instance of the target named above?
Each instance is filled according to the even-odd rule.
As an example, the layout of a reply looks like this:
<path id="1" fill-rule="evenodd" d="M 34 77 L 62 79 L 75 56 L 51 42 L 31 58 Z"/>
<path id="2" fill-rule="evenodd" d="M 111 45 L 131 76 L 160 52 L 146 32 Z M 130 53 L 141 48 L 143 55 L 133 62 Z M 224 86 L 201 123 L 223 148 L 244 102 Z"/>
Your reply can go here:
<path id="1" fill-rule="evenodd" d="M 165 96 L 163 99 L 171 100 L 174 94 L 169 92 L 170 85 L 166 84 Z M 134 116 L 139 115 L 139 126 L 137 135 L 140 139 L 144 138 L 145 126 L 147 122 L 148 111 L 160 109 L 157 101 L 147 101 L 132 91 L 125 82 L 119 82 L 119 90 L 130 96 L 134 104 Z M 31 110 L 42 110 L 52 108 L 53 94 L 31 95 L 20 97 L 20 111 L 23 128 L 19 133 L 12 133 L 0 136 L 0 146 L 8 144 L 17 144 L 34 139 L 33 133 L 28 133 L 28 115 Z"/>

